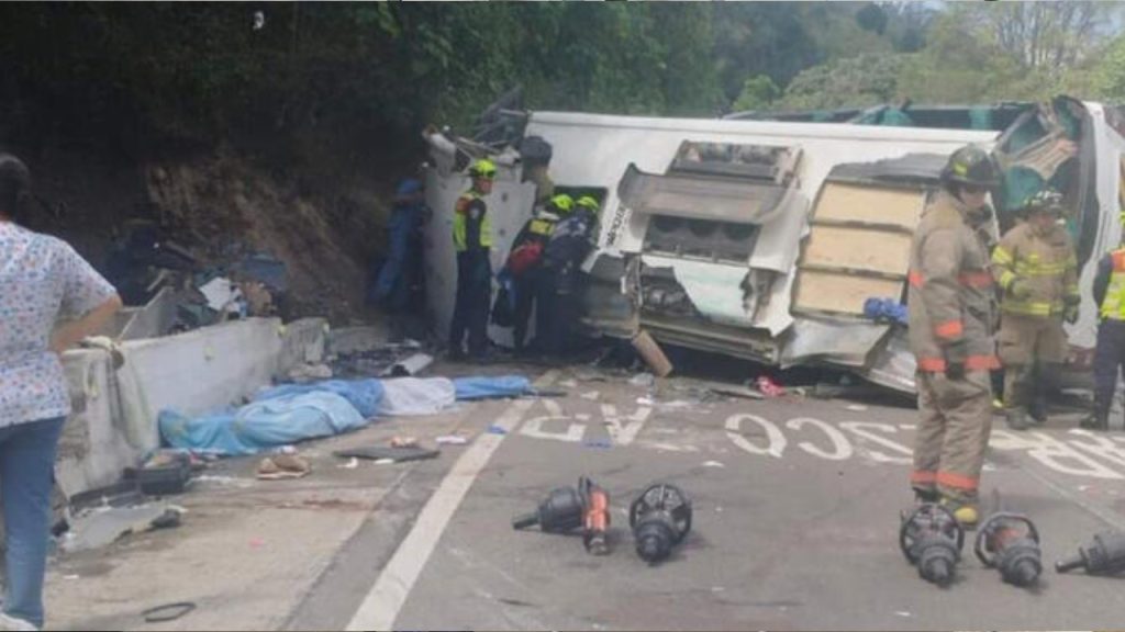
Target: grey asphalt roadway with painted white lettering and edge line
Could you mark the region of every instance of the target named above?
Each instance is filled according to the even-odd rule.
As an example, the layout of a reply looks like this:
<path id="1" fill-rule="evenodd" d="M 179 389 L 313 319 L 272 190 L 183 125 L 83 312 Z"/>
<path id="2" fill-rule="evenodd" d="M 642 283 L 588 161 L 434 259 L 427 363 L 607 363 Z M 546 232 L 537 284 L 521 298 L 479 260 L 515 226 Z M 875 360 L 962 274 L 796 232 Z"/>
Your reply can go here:
<path id="1" fill-rule="evenodd" d="M 1092 534 L 1125 529 L 1125 437 L 1074 430 L 1074 413 L 1024 433 L 997 417 L 983 475 L 986 516 L 1002 508 L 1037 525 L 1038 585 L 1001 583 L 973 557 L 970 532 L 956 580 L 938 588 L 898 545 L 912 502 L 909 405 L 730 398 L 587 369 L 542 380 L 567 396 L 474 418 L 475 443 L 440 479 L 430 472 L 404 487 L 397 526 L 384 514 L 360 531 L 294 626 L 1091 630 L 1123 621 L 1119 579 L 1053 569 Z M 579 476 L 611 494 L 608 557 L 586 553 L 577 534 L 511 526 Z M 627 508 L 657 481 L 687 493 L 694 520 L 672 558 L 650 566 L 633 550 Z M 349 571 L 357 559 L 364 570 Z"/>

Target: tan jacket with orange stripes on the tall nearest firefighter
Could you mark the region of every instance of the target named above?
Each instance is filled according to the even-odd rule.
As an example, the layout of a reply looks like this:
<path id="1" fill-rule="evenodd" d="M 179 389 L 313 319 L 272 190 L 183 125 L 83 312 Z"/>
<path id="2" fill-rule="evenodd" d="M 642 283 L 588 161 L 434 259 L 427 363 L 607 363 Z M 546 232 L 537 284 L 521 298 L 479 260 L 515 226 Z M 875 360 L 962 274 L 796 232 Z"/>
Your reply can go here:
<path id="1" fill-rule="evenodd" d="M 971 371 L 999 368 L 988 246 L 946 191 L 926 208 L 910 244 L 910 347 L 918 370 L 945 371 L 944 347 L 963 343 Z"/>

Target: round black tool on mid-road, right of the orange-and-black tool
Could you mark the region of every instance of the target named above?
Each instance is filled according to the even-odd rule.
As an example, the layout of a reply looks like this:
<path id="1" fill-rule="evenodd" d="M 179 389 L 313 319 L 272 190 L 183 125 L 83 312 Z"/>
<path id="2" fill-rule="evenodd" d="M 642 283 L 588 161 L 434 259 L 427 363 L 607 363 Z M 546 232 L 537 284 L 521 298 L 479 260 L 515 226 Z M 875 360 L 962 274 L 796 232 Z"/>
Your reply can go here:
<path id="1" fill-rule="evenodd" d="M 656 484 L 629 507 L 637 554 L 650 565 L 664 560 L 692 530 L 692 503 L 674 485 Z"/>

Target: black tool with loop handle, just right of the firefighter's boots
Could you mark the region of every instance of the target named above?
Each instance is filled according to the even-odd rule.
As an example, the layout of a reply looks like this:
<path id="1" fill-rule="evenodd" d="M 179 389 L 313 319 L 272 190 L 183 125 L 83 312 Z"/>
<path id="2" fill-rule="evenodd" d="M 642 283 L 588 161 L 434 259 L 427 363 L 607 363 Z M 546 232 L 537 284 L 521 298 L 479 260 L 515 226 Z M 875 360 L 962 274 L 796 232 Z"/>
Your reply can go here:
<path id="1" fill-rule="evenodd" d="M 1027 516 L 1000 512 L 989 516 L 976 534 L 976 559 L 1000 571 L 1015 586 L 1030 586 L 1043 572 L 1040 532 Z"/>

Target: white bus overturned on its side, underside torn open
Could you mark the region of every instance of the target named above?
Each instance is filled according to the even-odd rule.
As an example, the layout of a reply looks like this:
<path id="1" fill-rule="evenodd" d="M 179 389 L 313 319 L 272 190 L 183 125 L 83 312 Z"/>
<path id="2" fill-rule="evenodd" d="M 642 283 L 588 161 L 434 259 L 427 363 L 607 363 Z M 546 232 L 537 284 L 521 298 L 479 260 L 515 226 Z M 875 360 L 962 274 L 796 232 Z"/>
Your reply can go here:
<path id="1" fill-rule="evenodd" d="M 993 231 L 1044 187 L 1063 193 L 1081 267 L 1080 317 L 1066 325 L 1068 365 L 1092 360 L 1100 254 L 1120 240 L 1123 110 L 1059 97 L 991 107 L 871 108 L 646 118 L 502 111 L 488 143 L 428 130 L 428 287 L 444 333 L 456 269 L 449 234 L 465 165 L 500 165 L 488 200 L 494 267 L 530 216 L 529 138 L 550 147 L 556 190 L 595 195 L 601 228 L 587 259 L 584 324 L 629 338 L 781 368 L 827 364 L 906 392 L 915 361 L 906 324 L 873 317 L 872 299 L 906 300 L 911 234 L 947 156 L 991 148 L 1004 170 L 991 191 Z M 541 146 L 538 143 L 534 146 Z M 893 310 L 891 310 L 893 312 Z M 501 342 L 504 329 L 490 332 Z"/>

